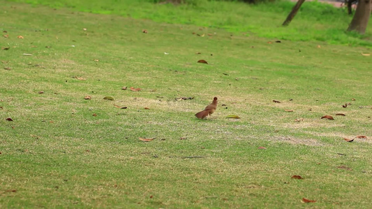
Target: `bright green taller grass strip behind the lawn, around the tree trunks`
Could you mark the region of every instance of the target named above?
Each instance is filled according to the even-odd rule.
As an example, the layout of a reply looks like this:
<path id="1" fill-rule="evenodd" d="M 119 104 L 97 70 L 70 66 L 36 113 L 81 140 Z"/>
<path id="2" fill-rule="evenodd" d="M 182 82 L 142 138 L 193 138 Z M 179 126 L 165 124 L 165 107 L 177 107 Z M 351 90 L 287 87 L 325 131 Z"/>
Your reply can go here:
<path id="1" fill-rule="evenodd" d="M 294 2 L 276 1 L 249 5 L 241 2 L 197 0 L 174 6 L 170 3 L 151 3 L 151 0 L 12 0 L 43 4 L 52 8 L 68 7 L 75 11 L 121 15 L 170 24 L 191 24 L 226 29 L 244 36 L 278 38 L 281 40 L 316 40 L 331 44 L 372 47 L 372 22 L 366 34 L 346 32 L 352 16 L 345 9 L 327 3 L 306 1 L 290 26 L 283 27 Z"/>

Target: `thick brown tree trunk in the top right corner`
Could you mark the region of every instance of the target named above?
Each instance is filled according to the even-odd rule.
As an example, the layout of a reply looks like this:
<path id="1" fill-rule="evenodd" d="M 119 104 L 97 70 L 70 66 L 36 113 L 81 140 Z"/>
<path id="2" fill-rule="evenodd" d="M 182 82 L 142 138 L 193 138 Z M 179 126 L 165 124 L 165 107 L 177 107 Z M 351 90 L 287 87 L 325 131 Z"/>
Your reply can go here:
<path id="1" fill-rule="evenodd" d="M 355 10 L 355 15 L 352 17 L 348 31 L 357 31 L 361 34 L 366 32 L 369 16 L 371 15 L 371 7 L 372 0 L 359 0 L 357 10 Z"/>

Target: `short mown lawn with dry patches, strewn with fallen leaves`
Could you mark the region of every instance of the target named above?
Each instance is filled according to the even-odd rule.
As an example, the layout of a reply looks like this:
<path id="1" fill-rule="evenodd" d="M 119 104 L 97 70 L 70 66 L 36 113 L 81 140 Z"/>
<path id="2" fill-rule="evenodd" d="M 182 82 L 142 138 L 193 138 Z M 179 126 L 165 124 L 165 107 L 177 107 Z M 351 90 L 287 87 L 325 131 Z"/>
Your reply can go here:
<path id="1" fill-rule="evenodd" d="M 0 208 L 370 207 L 370 48 L 1 10 Z M 213 118 L 195 118 L 214 96 Z"/>

